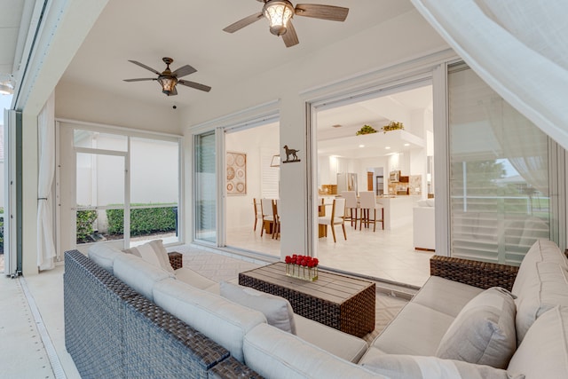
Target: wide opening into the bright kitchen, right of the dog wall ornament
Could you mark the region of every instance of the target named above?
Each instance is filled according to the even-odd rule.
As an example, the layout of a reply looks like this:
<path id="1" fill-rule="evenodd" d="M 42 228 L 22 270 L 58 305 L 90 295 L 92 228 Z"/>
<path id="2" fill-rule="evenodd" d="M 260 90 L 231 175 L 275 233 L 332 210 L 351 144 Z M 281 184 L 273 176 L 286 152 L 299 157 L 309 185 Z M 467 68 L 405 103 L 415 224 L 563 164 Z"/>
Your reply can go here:
<path id="1" fill-rule="evenodd" d="M 346 96 L 315 110 L 319 197 L 341 195 L 335 180 L 348 174 L 359 191 L 375 193 L 385 214 L 384 230 L 359 221 L 348 223 L 345 241 L 319 238 L 321 265 L 421 285 L 433 250 L 415 249 L 413 209 L 434 197 L 431 81 Z"/>

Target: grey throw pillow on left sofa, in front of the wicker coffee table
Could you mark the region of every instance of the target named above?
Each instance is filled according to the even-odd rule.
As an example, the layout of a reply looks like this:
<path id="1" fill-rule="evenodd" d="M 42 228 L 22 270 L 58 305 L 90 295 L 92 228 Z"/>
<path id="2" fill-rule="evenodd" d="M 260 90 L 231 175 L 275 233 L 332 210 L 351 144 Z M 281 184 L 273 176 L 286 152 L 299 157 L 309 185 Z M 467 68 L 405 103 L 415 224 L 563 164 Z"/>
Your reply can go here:
<path id="1" fill-rule="evenodd" d="M 296 334 L 294 311 L 287 299 L 226 281 L 221 282 L 221 296 L 234 303 L 263 312 L 270 325 L 293 335 Z"/>

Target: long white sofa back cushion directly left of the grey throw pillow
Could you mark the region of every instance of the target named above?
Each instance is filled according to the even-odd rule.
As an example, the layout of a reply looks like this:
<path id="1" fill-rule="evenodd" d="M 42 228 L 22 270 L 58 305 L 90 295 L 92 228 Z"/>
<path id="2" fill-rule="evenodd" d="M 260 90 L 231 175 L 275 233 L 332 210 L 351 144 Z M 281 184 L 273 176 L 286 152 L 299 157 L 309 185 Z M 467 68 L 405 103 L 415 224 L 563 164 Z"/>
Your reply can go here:
<path id="1" fill-rule="evenodd" d="M 154 287 L 154 303 L 224 346 L 241 362 L 244 336 L 256 325 L 266 323 L 262 312 L 193 288 L 181 280 L 157 283 Z"/>

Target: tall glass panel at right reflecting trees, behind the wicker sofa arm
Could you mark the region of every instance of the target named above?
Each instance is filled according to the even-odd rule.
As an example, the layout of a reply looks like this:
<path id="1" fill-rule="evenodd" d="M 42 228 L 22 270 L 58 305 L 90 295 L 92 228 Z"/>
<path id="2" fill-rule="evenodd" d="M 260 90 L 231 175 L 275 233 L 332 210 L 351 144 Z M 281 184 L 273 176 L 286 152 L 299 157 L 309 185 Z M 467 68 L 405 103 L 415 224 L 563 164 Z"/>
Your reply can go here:
<path id="1" fill-rule="evenodd" d="M 452 255 L 518 264 L 550 238 L 548 137 L 466 65 L 447 83 Z"/>

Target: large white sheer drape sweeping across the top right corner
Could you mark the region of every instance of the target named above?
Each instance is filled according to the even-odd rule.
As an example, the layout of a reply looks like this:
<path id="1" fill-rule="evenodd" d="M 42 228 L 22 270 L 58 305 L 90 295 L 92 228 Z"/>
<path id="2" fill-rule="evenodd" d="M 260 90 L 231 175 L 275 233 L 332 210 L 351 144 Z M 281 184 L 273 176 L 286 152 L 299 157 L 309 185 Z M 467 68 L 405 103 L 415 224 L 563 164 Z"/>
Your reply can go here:
<path id="1" fill-rule="evenodd" d="M 568 1 L 411 1 L 493 91 L 568 149 Z"/>

